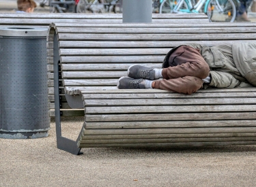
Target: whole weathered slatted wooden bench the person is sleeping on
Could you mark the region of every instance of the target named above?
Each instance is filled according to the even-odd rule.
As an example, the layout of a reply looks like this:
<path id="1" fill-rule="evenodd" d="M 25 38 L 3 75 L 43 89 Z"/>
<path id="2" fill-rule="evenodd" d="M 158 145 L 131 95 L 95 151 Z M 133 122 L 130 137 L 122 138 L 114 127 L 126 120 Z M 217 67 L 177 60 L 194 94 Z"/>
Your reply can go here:
<path id="1" fill-rule="evenodd" d="M 165 54 L 186 42 L 256 41 L 255 29 L 255 23 L 51 24 L 57 148 L 79 154 L 88 147 L 256 144 L 256 88 L 193 95 L 116 88 L 132 64 L 161 67 Z M 76 141 L 61 136 L 63 101 L 85 115 Z"/>

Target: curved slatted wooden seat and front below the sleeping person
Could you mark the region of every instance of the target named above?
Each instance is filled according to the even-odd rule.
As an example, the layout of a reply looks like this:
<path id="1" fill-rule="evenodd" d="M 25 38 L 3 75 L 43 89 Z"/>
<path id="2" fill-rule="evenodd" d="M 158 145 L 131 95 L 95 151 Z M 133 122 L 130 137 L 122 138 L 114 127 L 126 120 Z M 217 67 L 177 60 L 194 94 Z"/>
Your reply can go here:
<path id="1" fill-rule="evenodd" d="M 80 90 L 85 106 L 81 148 L 255 144 L 255 88 Z M 188 143 L 188 145 L 187 145 Z"/>

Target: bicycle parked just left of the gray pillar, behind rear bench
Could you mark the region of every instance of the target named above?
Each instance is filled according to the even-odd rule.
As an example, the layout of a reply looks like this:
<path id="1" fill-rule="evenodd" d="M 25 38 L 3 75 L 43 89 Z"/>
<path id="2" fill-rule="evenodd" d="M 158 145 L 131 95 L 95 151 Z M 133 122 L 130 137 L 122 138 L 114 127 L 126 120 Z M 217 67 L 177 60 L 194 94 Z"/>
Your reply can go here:
<path id="1" fill-rule="evenodd" d="M 76 13 L 121 13 L 122 5 L 119 0 L 79 0 Z"/>

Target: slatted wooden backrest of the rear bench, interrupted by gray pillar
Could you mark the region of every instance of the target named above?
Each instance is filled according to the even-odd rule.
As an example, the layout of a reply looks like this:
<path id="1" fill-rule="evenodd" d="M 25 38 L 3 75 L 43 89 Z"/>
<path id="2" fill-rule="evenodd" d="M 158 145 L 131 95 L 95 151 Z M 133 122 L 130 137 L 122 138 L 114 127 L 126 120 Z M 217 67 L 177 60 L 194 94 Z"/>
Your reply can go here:
<path id="1" fill-rule="evenodd" d="M 153 14 L 152 22 L 188 23 L 209 22 L 205 14 Z M 122 23 L 122 14 L 0 14 L 0 25 L 34 25 L 48 26 L 51 23 Z"/>

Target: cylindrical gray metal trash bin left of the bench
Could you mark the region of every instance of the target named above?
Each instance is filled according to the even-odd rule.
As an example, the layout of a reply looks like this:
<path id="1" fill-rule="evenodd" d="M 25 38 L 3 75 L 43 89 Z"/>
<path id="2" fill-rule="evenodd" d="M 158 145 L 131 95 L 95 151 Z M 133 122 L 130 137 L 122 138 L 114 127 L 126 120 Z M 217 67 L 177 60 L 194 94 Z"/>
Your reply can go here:
<path id="1" fill-rule="evenodd" d="M 47 28 L 0 28 L 0 138 L 47 137 Z"/>

